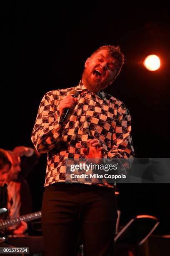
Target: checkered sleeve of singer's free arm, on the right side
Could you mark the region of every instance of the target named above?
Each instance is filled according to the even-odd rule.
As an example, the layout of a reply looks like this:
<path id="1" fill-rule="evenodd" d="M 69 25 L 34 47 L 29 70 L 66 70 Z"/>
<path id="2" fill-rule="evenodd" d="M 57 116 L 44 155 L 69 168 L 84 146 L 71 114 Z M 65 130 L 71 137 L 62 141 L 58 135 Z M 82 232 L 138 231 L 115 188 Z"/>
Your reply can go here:
<path id="1" fill-rule="evenodd" d="M 113 121 L 112 149 L 106 151 L 107 161 L 117 159 L 121 172 L 130 169 L 134 159 L 134 149 L 131 136 L 131 117 L 128 109 L 121 105 L 117 110 L 117 121 Z"/>

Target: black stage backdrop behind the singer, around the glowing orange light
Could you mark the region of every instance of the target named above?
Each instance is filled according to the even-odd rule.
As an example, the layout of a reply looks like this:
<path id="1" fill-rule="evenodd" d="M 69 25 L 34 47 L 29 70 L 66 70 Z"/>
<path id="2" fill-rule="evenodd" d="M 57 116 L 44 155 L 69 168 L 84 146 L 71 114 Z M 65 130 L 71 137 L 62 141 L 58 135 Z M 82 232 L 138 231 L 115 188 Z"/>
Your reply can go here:
<path id="1" fill-rule="evenodd" d="M 4 3 L 3 3 L 4 2 Z M 84 63 L 104 44 L 120 45 L 125 65 L 107 89 L 125 103 L 132 118 L 135 156 L 169 158 L 170 6 L 168 2 L 115 1 L 59 4 L 2 1 L 1 148 L 32 146 L 30 136 L 45 92 L 75 86 Z M 143 67 L 158 54 L 161 67 Z M 40 210 L 46 154 L 28 182 L 33 210 Z M 170 231 L 169 184 L 117 184 L 121 223 L 136 214 L 160 218 L 160 232 Z"/>

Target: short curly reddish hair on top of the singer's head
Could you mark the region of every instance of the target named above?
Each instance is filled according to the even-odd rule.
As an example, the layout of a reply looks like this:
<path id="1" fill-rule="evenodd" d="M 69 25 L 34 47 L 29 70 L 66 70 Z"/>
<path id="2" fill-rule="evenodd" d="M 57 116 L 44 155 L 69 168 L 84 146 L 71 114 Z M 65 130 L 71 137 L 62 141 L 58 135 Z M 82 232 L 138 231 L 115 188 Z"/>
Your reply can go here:
<path id="1" fill-rule="evenodd" d="M 120 51 L 120 46 L 113 46 L 113 45 L 103 45 L 100 46 L 97 50 L 95 50 L 91 56 L 93 56 L 94 54 L 96 54 L 97 52 L 101 51 L 101 50 L 107 50 L 107 53 L 114 57 L 115 59 L 117 59 L 119 65 L 117 67 L 117 72 L 116 72 L 116 76 L 120 73 L 120 70 L 122 68 L 122 65 L 124 64 L 125 61 L 125 56 L 124 54 L 122 54 L 122 52 Z"/>

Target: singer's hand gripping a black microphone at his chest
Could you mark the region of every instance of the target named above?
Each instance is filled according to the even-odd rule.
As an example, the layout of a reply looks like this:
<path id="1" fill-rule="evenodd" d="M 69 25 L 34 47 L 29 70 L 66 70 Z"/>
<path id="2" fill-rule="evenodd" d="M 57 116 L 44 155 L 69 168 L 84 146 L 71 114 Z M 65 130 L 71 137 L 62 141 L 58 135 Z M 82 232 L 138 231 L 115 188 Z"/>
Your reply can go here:
<path id="1" fill-rule="evenodd" d="M 75 105 L 77 104 L 78 92 L 75 90 L 70 91 L 69 95 L 67 95 L 63 100 L 59 103 L 60 110 L 60 124 L 64 124 L 67 120 L 69 114 L 75 109 Z"/>

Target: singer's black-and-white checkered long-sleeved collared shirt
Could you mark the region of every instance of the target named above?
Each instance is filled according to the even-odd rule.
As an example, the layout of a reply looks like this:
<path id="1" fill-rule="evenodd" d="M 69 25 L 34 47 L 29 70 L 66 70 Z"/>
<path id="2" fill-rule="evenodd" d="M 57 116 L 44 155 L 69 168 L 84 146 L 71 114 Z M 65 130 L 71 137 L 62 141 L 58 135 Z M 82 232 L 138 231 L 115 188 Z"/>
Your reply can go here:
<path id="1" fill-rule="evenodd" d="M 69 121 L 59 125 L 59 102 L 77 90 L 77 105 Z M 89 138 L 98 139 L 104 147 L 104 158 L 133 159 L 130 113 L 120 101 L 100 91 L 89 92 L 80 81 L 77 87 L 47 92 L 38 110 L 31 140 L 40 153 L 47 153 L 45 187 L 65 182 L 67 159 L 85 159 L 82 148 Z M 96 184 L 81 180 L 83 184 Z M 100 182 L 97 185 L 114 187 Z"/>

